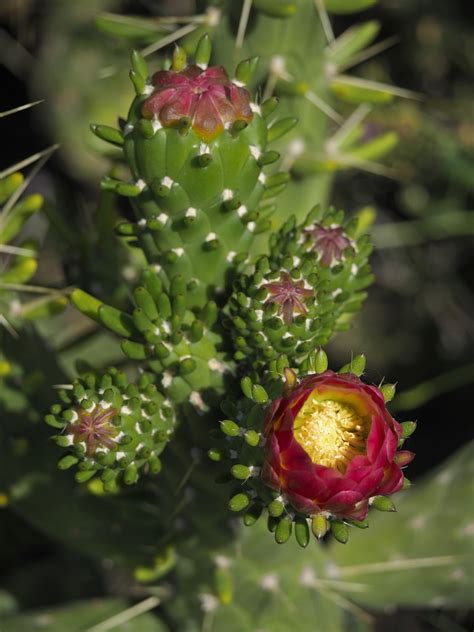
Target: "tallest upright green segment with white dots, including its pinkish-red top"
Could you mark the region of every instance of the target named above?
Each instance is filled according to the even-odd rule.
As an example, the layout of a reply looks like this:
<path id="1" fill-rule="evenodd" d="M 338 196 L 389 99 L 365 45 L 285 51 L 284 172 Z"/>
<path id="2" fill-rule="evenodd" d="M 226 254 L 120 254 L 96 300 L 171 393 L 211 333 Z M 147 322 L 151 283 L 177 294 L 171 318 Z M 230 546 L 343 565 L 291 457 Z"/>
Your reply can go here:
<path id="1" fill-rule="evenodd" d="M 231 81 L 222 67 L 207 68 L 209 47 L 205 36 L 195 65 L 158 71 L 151 82 L 143 58 L 133 57 L 137 97 L 122 131 L 132 181 L 102 182 L 130 198 L 137 222 L 126 230 L 148 262 L 161 267 L 162 279 L 181 274 L 195 280 L 189 307 L 203 307 L 228 289 L 231 270 L 247 259 L 254 236 L 269 230 L 273 208 L 263 200 L 283 191 L 288 178 L 263 173 L 279 158 L 268 143 L 296 122 L 272 120 L 268 127 L 242 87 L 256 60 L 239 64 L 240 79 Z M 268 115 L 269 106 L 263 107 Z M 101 126 L 94 131 L 120 140 Z"/>

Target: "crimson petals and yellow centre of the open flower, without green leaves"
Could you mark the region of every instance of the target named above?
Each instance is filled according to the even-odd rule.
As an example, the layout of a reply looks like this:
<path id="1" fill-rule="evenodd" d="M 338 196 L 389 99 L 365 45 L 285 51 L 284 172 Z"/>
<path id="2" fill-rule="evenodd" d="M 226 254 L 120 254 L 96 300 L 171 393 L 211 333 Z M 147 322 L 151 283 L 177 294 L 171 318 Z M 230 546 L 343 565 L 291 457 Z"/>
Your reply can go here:
<path id="1" fill-rule="evenodd" d="M 363 520 L 369 499 L 403 486 L 402 428 L 380 390 L 357 376 L 308 375 L 266 415 L 262 476 L 296 510 Z"/>

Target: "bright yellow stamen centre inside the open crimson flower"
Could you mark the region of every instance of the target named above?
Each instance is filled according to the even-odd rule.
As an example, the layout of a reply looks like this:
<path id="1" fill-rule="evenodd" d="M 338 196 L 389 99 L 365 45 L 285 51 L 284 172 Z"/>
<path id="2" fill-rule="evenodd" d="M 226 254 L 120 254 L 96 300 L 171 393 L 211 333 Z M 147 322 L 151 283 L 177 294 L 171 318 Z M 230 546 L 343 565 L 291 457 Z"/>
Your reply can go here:
<path id="1" fill-rule="evenodd" d="M 365 454 L 370 417 L 348 403 L 308 397 L 296 416 L 294 437 L 313 463 L 344 473 L 350 461 Z"/>

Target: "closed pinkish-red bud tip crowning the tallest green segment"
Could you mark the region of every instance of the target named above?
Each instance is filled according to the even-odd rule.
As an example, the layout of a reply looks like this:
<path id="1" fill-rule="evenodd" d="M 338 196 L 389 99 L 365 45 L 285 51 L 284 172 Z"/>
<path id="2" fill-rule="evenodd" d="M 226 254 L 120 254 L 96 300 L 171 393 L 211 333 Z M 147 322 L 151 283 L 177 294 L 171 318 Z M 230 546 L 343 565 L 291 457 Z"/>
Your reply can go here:
<path id="1" fill-rule="evenodd" d="M 189 119 L 194 132 L 208 142 L 236 121 L 250 123 L 250 94 L 233 83 L 224 68 L 188 66 L 181 72 L 160 70 L 154 90 L 143 104 L 143 116 L 156 116 L 164 127 Z"/>

